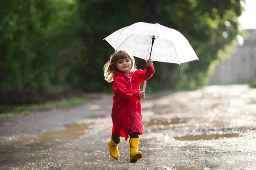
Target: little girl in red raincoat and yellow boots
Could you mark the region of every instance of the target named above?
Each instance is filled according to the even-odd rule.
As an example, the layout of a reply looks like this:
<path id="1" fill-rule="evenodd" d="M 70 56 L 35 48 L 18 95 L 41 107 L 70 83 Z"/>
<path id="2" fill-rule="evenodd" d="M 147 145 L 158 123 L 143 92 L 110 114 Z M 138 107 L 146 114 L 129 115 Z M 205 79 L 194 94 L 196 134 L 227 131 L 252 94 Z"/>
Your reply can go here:
<path id="1" fill-rule="evenodd" d="M 137 162 L 142 158 L 138 151 L 139 135 L 143 134 L 140 99 L 145 93 L 140 91 L 140 84 L 154 74 L 154 65 L 151 59 L 146 61 L 145 70 L 137 70 L 134 57 L 127 51 L 116 51 L 104 65 L 104 76 L 107 82 L 113 82 L 112 108 L 112 136 L 108 143 L 109 152 L 113 159 L 119 159 L 118 144 L 120 136 L 127 141 L 130 137 L 130 162 Z"/>

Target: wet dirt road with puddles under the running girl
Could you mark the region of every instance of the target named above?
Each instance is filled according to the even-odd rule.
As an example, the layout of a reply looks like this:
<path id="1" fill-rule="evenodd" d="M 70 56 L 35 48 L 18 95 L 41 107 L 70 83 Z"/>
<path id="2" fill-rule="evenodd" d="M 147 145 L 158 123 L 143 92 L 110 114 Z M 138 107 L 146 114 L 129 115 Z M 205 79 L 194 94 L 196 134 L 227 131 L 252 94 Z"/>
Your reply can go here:
<path id="1" fill-rule="evenodd" d="M 19 116 L 0 124 L 0 170 L 241 170 L 256 168 L 256 89 L 208 86 L 146 95 L 143 158 L 108 152 L 112 96 L 86 105 Z"/>

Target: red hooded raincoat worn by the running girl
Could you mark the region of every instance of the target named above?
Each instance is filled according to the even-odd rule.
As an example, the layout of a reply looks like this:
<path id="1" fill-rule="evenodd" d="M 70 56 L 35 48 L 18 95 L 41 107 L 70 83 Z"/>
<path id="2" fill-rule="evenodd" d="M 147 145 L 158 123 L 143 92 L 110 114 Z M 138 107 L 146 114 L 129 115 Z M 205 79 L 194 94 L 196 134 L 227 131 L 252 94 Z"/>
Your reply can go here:
<path id="1" fill-rule="evenodd" d="M 147 69 L 147 65 L 146 65 Z M 130 77 L 121 71 L 116 71 L 113 77 L 112 89 L 112 135 L 125 137 L 134 132 L 143 134 L 142 115 L 140 105 L 140 84 L 145 80 L 146 70 L 131 71 Z M 148 69 L 147 79 L 154 74 L 154 65 Z"/>

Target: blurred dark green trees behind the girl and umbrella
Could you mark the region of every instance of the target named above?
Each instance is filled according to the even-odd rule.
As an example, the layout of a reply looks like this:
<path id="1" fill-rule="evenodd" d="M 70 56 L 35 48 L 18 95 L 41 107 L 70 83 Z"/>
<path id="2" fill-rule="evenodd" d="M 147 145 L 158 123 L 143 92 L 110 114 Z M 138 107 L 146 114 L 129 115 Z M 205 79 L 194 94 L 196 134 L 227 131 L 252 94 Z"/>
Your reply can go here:
<path id="1" fill-rule="evenodd" d="M 239 0 L 2 0 L 0 11 L 0 104 L 111 91 L 102 73 L 114 49 L 102 39 L 136 22 L 180 31 L 200 59 L 154 62 L 148 92 L 207 85 L 215 63 L 227 58 L 221 51 L 235 49 L 241 34 Z"/>

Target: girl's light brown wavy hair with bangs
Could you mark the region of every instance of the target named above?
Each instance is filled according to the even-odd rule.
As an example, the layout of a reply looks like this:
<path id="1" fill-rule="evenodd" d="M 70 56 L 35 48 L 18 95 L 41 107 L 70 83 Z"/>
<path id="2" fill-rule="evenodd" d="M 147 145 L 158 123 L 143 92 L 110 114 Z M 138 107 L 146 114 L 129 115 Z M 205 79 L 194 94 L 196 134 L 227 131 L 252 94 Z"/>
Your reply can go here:
<path id="1" fill-rule="evenodd" d="M 135 59 L 133 55 L 129 54 L 125 50 L 119 50 L 115 51 L 113 55 L 111 55 L 110 60 L 104 65 L 104 77 L 107 82 L 113 82 L 113 77 L 116 71 L 118 69 L 116 68 L 116 62 L 118 62 L 119 59 L 126 59 L 129 58 L 131 60 L 131 70 L 130 71 L 136 71 L 136 65 L 135 65 Z"/>

